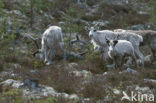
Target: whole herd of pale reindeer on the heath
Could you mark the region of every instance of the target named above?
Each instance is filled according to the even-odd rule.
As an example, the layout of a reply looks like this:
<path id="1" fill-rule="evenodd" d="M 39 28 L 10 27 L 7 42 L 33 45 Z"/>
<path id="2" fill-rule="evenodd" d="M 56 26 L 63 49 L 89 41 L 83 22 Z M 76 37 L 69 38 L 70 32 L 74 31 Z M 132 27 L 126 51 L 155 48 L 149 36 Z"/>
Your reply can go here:
<path id="1" fill-rule="evenodd" d="M 156 59 L 156 32 L 151 30 L 146 31 L 132 31 L 116 29 L 99 30 L 98 25 L 85 28 L 89 31 L 89 38 L 91 44 L 94 46 L 94 52 L 102 51 L 102 58 L 105 62 L 112 61 L 114 68 L 122 67 L 128 61 L 135 64 L 137 67 L 144 67 L 144 55 L 141 53 L 139 47 L 148 45 L 151 48 L 153 61 Z M 53 63 L 54 54 L 57 52 L 56 48 L 61 50 L 64 59 L 66 59 L 66 49 L 64 47 L 64 39 L 62 29 L 58 26 L 50 26 L 42 35 L 41 49 L 37 44 L 37 39 L 29 34 L 25 34 L 28 38 L 35 41 L 38 50 L 34 56 L 39 56 L 46 65 Z M 71 43 L 81 42 L 78 35 Z M 137 60 L 139 59 L 139 60 Z"/>

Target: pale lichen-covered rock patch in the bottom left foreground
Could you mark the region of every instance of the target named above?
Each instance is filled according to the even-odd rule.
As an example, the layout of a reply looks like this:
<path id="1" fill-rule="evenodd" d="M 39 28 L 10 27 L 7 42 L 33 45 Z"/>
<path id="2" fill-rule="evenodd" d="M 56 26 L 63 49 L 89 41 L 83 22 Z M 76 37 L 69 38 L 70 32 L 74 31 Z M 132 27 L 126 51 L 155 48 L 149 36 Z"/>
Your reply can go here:
<path id="1" fill-rule="evenodd" d="M 13 88 L 22 89 L 22 93 L 24 96 L 28 98 L 40 99 L 47 96 L 54 96 L 54 97 L 62 97 L 65 99 L 72 99 L 72 100 L 79 100 L 79 97 L 76 94 L 67 94 L 67 93 L 58 93 L 52 87 L 45 86 L 38 84 L 36 80 L 26 79 L 24 82 L 8 79 L 0 83 L 0 85 L 8 85 Z M 24 88 L 24 86 L 31 86 L 30 88 Z M 33 89 L 32 89 L 33 88 Z M 34 89 L 35 88 L 35 89 Z"/>

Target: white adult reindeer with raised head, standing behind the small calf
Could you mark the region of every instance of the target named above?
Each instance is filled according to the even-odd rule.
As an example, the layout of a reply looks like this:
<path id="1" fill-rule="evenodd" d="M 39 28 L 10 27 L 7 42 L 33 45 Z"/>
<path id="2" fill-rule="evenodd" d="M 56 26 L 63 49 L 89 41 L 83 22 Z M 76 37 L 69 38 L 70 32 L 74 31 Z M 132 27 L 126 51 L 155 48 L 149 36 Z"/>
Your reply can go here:
<path id="1" fill-rule="evenodd" d="M 131 32 L 113 32 L 110 30 L 98 30 L 97 25 L 89 28 L 89 37 L 93 39 L 98 45 L 104 48 L 103 51 L 105 61 L 109 59 L 109 56 L 107 54 L 108 45 L 106 43 L 105 37 L 107 36 L 109 39 L 114 39 L 117 35 L 118 39 L 127 40 L 132 43 L 136 56 L 139 57 L 142 66 L 144 66 L 144 56 L 139 50 L 139 46 L 141 42 L 143 42 L 142 36 Z"/>

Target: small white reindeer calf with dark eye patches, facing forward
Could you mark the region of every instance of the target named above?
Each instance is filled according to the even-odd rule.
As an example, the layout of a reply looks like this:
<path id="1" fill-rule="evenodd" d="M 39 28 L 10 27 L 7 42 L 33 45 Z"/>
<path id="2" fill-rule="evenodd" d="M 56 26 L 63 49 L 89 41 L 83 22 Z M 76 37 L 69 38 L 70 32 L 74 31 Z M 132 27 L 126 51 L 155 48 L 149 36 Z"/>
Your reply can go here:
<path id="1" fill-rule="evenodd" d="M 108 40 L 108 55 L 113 60 L 115 68 L 123 65 L 126 57 L 131 57 L 137 65 L 137 58 L 134 53 L 134 48 L 131 42 L 127 40 Z M 138 66 L 138 65 L 137 65 Z"/>

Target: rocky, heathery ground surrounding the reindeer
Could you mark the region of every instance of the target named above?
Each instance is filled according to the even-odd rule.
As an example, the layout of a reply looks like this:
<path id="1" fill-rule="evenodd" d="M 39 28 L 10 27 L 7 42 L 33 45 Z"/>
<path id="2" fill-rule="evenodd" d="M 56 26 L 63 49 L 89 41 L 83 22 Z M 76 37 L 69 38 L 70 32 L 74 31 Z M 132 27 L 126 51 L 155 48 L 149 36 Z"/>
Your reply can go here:
<path id="1" fill-rule="evenodd" d="M 29 0 L 2 0 L 0 103 L 127 103 L 121 101 L 123 91 L 156 96 L 156 62 L 148 64 L 149 47 L 141 47 L 147 56 L 144 69 L 109 70 L 90 45 L 83 59 L 64 61 L 56 56 L 54 64 L 46 66 L 32 56 L 36 48 L 23 37 L 24 33 L 40 37 L 48 25 L 58 25 L 63 29 L 66 49 L 77 52 L 70 48 L 68 37 L 78 33 L 89 42 L 84 29 L 88 23 L 99 23 L 100 29 L 156 30 L 148 0 L 45 1 L 49 6 L 34 5 L 31 28 Z"/>

